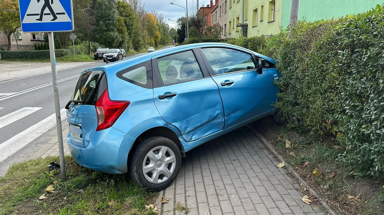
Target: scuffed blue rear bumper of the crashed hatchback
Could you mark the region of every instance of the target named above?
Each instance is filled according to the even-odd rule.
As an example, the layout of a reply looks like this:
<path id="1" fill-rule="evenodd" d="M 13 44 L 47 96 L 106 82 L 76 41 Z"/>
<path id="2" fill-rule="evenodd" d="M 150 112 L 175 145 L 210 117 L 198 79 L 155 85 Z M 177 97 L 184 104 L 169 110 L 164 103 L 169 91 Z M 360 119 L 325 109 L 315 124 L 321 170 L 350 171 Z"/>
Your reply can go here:
<path id="1" fill-rule="evenodd" d="M 96 131 L 87 147 L 76 146 L 67 136 L 73 159 L 83 167 L 110 174 L 127 172 L 127 158 L 134 138 L 110 127 Z"/>

